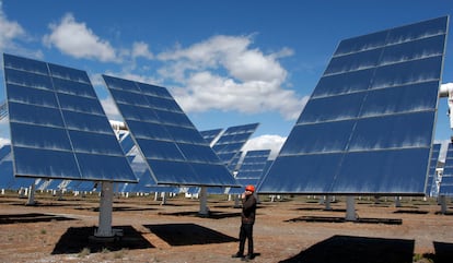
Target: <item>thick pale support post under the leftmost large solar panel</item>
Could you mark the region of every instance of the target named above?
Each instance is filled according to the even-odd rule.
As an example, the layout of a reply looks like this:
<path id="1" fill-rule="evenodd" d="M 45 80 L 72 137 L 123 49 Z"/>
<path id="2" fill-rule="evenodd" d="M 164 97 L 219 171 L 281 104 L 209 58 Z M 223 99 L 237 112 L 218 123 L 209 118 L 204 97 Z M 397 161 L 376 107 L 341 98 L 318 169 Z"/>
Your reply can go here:
<path id="1" fill-rule="evenodd" d="M 112 230 L 113 182 L 104 181 L 101 184 L 100 225 L 94 231 L 94 236 L 100 238 L 108 238 L 115 236 Z"/>

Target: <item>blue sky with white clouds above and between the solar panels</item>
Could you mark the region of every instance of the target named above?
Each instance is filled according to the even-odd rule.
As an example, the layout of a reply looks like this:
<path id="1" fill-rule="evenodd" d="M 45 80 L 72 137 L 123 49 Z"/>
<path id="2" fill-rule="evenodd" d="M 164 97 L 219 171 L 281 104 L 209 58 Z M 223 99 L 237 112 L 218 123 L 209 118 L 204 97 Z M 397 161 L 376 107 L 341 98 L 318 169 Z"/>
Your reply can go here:
<path id="1" fill-rule="evenodd" d="M 341 39 L 452 13 L 451 0 L 0 0 L 0 51 L 85 70 L 112 119 L 101 74 L 167 87 L 200 131 L 259 122 L 246 147 L 277 153 Z"/>

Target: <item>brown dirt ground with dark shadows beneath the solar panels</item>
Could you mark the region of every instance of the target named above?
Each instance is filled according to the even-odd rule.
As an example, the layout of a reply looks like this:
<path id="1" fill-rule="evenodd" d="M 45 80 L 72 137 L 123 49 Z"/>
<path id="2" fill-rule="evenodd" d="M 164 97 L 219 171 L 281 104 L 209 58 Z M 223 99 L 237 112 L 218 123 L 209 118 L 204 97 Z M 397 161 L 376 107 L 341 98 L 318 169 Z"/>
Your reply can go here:
<path id="1" fill-rule="evenodd" d="M 345 222 L 345 199 L 325 210 L 315 196 L 283 196 L 260 203 L 254 227 L 254 262 L 404 263 L 453 262 L 453 215 L 433 200 L 356 200 L 357 222 Z M 25 205 L 0 195 L 0 262 L 241 262 L 241 210 L 226 195 L 210 195 L 209 217 L 199 201 L 177 195 L 166 204 L 154 195 L 115 198 L 114 229 L 123 237 L 93 240 L 97 196 L 37 194 Z M 452 210 L 452 207 L 449 207 Z"/>

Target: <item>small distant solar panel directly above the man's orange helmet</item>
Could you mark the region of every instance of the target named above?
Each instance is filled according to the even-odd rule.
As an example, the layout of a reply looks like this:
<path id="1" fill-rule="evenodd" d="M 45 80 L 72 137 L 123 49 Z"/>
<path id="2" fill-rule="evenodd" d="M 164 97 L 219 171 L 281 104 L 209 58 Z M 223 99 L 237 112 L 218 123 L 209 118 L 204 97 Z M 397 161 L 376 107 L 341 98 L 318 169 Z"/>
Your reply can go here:
<path id="1" fill-rule="evenodd" d="M 236 181 L 243 188 L 230 189 L 229 193 L 242 193 L 244 192 L 244 187 L 247 184 L 257 186 L 263 177 L 269 155 L 270 150 L 248 151 L 236 175 Z"/>

